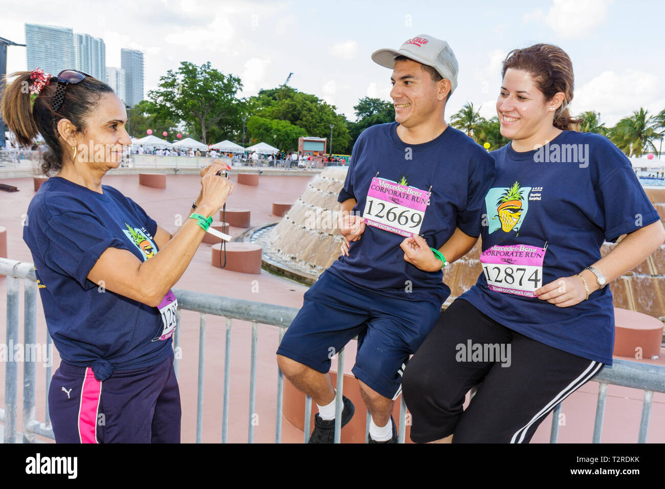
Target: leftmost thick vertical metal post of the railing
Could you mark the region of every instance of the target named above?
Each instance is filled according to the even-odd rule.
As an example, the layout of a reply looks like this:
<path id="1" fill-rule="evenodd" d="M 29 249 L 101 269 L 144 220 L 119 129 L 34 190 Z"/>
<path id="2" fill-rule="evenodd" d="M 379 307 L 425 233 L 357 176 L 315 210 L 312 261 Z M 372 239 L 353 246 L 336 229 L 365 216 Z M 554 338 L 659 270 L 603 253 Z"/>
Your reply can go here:
<path id="1" fill-rule="evenodd" d="M 19 343 L 19 279 L 7 276 L 7 361 L 5 362 L 5 443 L 16 442 L 18 365 L 14 346 Z"/>

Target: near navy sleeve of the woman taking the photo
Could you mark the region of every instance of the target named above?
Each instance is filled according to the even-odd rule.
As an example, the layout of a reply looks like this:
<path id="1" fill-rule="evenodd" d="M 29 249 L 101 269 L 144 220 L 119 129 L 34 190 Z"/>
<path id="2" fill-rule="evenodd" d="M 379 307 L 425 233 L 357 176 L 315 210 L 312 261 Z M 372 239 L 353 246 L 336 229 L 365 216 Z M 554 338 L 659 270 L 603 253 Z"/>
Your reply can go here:
<path id="1" fill-rule="evenodd" d="M 53 216 L 44 233 L 49 242 L 45 263 L 73 277 L 84 289 L 93 286 L 90 281 L 86 283 L 88 273 L 107 248 L 128 249 L 94 215 L 84 211 Z"/>

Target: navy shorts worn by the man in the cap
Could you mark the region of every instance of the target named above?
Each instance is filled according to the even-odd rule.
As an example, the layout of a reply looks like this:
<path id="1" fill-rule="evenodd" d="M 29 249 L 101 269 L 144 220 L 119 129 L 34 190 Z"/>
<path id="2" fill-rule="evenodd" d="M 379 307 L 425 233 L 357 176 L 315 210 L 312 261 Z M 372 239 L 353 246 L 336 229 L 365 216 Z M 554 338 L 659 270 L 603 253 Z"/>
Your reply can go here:
<path id="1" fill-rule="evenodd" d="M 327 373 L 331 358 L 357 335 L 353 375 L 388 399 L 399 395 L 406 362 L 441 313 L 440 305 L 374 293 L 330 271 L 321 274 L 304 299 L 277 355 Z"/>

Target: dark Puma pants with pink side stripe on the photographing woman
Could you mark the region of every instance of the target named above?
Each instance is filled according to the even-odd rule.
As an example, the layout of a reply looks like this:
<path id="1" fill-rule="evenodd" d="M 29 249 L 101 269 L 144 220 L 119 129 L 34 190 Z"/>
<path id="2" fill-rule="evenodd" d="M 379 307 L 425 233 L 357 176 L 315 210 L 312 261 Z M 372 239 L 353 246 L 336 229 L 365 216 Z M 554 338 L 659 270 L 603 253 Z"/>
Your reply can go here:
<path id="1" fill-rule="evenodd" d="M 105 381 L 62 362 L 51 379 L 49 412 L 57 443 L 180 443 L 180 390 L 173 355 Z"/>

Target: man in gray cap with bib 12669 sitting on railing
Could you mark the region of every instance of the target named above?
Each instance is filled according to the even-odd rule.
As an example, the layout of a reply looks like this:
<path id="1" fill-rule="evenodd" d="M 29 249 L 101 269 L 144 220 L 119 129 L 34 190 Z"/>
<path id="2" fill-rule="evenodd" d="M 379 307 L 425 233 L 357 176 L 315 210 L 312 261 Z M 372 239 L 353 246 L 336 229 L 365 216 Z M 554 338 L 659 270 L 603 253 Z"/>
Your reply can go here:
<path id="1" fill-rule="evenodd" d="M 354 144 L 338 196 L 343 254 L 305 293 L 277 350 L 283 374 L 319 408 L 314 443 L 333 441 L 328 371 L 356 335 L 352 373 L 371 414 L 369 440 L 396 442 L 391 413 L 402 372 L 450 295 L 442 268 L 480 234 L 493 180 L 487 152 L 444 120 L 458 75 L 448 43 L 419 35 L 372 60 L 393 70 L 396 122 L 367 128 Z M 354 406 L 342 399 L 344 426 Z"/>

